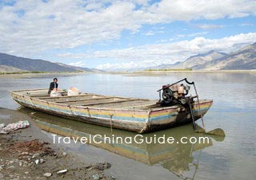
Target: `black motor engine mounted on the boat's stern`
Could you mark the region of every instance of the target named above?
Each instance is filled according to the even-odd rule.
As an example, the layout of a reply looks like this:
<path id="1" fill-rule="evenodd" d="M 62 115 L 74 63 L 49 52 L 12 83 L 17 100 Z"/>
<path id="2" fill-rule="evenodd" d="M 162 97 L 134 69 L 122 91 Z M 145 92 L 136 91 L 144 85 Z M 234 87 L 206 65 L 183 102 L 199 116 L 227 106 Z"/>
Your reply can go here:
<path id="1" fill-rule="evenodd" d="M 159 103 L 161 104 L 161 106 L 169 106 L 173 104 L 186 105 L 189 102 L 191 102 L 191 97 L 186 96 L 190 91 L 189 85 L 167 84 L 167 85 L 163 85 L 161 90 L 162 91 L 159 92 L 160 93 Z M 162 92 L 162 95 L 161 95 L 161 92 Z"/>

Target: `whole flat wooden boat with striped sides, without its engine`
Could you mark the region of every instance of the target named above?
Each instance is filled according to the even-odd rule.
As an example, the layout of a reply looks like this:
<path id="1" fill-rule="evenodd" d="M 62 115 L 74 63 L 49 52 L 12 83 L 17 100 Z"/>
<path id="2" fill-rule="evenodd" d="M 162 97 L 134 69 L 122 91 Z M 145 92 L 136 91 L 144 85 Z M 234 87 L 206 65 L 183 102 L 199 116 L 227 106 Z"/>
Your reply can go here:
<path id="1" fill-rule="evenodd" d="M 11 91 L 10 95 L 20 105 L 106 127 L 125 129 L 144 133 L 190 123 L 190 111 L 182 105 L 160 107 L 157 100 L 102 96 L 82 93 L 67 96 L 62 91 L 61 97 L 50 97 L 48 89 L 25 89 Z M 205 115 L 213 100 L 200 100 L 193 104 L 194 119 Z"/>

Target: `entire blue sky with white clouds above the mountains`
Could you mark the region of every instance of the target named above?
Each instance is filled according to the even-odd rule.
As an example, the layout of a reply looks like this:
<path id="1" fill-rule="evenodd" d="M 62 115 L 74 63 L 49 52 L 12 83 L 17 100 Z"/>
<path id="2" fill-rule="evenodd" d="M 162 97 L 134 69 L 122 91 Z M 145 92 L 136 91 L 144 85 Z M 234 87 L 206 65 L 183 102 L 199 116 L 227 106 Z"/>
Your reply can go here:
<path id="1" fill-rule="evenodd" d="M 174 64 L 256 41 L 255 0 L 0 0 L 0 53 L 100 69 Z"/>

